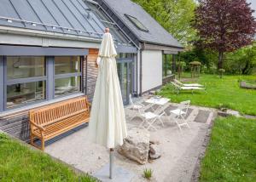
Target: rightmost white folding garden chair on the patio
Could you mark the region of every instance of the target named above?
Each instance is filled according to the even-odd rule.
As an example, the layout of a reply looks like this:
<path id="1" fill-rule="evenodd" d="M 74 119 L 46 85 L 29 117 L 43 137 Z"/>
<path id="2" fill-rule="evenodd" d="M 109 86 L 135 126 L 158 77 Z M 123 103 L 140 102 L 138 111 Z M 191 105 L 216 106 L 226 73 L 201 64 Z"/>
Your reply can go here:
<path id="1" fill-rule="evenodd" d="M 189 111 L 189 105 L 190 105 L 190 100 L 183 101 L 180 103 L 180 106 L 176 110 L 170 111 L 171 117 L 174 116 L 174 121 L 177 123 L 177 127 L 180 130 L 182 130 L 181 127 L 183 126 L 187 126 L 189 128 L 189 124 L 185 119 Z"/>

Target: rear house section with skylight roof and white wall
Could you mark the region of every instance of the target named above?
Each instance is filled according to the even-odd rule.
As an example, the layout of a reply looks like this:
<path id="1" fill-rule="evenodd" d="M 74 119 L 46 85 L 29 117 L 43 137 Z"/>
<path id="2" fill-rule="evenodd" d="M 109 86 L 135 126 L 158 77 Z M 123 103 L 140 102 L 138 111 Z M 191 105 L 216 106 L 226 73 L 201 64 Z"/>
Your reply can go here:
<path id="1" fill-rule="evenodd" d="M 170 71 L 175 71 L 175 61 L 171 65 L 170 60 L 174 60 L 172 55 L 183 51 L 183 46 L 137 3 L 131 0 L 96 2 L 138 47 L 137 85 L 134 86 L 137 90 L 133 90 L 134 93 L 141 95 L 160 88 L 169 80 L 168 76 L 172 76 Z"/>

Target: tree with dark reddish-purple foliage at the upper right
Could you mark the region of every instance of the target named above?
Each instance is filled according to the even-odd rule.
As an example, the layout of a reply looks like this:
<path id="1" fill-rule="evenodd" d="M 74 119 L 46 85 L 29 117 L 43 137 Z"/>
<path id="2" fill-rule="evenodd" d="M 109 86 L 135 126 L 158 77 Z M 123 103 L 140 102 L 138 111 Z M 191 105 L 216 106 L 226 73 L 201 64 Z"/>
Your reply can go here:
<path id="1" fill-rule="evenodd" d="M 194 26 L 205 48 L 218 52 L 218 69 L 224 53 L 253 42 L 256 22 L 246 0 L 199 0 Z"/>

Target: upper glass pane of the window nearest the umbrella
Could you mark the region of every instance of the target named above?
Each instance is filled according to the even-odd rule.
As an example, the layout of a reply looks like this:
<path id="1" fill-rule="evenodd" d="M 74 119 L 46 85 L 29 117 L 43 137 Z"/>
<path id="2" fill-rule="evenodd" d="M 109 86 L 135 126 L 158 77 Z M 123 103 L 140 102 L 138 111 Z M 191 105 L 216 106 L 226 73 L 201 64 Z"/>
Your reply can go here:
<path id="1" fill-rule="evenodd" d="M 80 57 L 55 57 L 55 75 L 80 72 Z"/>

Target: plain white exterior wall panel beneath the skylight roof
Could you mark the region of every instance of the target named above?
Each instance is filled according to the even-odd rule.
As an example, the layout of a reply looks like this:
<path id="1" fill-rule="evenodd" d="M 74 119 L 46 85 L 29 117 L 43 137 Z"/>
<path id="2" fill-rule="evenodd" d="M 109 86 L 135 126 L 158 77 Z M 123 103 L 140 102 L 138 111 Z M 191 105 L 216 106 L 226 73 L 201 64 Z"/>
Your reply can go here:
<path id="1" fill-rule="evenodd" d="M 143 92 L 162 85 L 162 51 L 143 50 Z"/>

